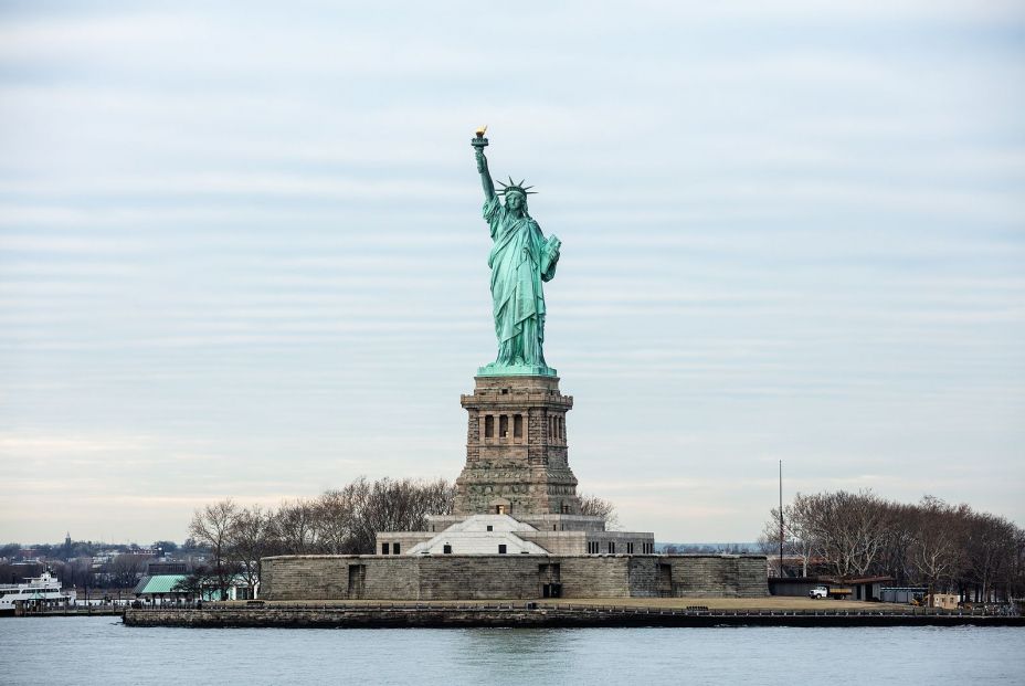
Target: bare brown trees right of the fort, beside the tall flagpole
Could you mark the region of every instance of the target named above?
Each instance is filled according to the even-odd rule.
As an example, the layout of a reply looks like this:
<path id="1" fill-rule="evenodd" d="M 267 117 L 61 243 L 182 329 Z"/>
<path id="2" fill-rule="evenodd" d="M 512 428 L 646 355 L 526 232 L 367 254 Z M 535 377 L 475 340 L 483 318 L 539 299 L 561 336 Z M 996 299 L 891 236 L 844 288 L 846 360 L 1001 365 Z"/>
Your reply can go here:
<path id="1" fill-rule="evenodd" d="M 779 508 L 760 542 L 771 560 L 779 551 Z M 932 496 L 904 504 L 871 490 L 799 493 L 783 507 L 783 552 L 800 560 L 794 571 L 805 577 L 891 577 L 895 585 L 975 601 L 1025 593 L 1025 530 Z"/>

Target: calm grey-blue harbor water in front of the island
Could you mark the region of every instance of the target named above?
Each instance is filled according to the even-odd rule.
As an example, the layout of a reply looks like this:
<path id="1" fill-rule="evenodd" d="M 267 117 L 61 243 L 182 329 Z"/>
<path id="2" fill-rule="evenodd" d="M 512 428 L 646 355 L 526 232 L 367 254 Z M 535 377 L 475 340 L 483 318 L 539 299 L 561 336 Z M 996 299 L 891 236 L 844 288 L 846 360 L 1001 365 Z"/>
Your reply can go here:
<path id="1" fill-rule="evenodd" d="M 142 629 L 0 618 L 0 684 L 1025 684 L 1025 629 Z"/>

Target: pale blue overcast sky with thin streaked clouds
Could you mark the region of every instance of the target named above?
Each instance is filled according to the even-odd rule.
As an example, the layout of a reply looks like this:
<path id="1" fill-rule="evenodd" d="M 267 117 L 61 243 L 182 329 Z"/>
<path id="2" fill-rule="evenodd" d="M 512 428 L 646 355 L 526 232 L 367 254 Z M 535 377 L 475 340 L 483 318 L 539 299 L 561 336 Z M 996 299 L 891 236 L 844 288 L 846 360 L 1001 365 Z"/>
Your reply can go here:
<path id="1" fill-rule="evenodd" d="M 753 540 L 781 458 L 1025 524 L 1021 2 L 369 7 L 0 0 L 0 541 L 454 479 L 482 124 L 623 525 Z"/>

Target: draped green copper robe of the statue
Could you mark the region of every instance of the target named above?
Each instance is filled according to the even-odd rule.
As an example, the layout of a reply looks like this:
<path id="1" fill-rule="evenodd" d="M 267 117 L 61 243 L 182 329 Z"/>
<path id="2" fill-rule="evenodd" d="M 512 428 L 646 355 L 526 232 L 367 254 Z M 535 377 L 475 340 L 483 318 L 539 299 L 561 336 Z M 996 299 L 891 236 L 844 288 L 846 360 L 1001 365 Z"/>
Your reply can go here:
<path id="1" fill-rule="evenodd" d="M 559 251 L 529 217 L 514 217 L 498 198 L 484 203 L 495 242 L 488 254 L 498 365 L 545 365 L 545 292 L 556 275 Z"/>

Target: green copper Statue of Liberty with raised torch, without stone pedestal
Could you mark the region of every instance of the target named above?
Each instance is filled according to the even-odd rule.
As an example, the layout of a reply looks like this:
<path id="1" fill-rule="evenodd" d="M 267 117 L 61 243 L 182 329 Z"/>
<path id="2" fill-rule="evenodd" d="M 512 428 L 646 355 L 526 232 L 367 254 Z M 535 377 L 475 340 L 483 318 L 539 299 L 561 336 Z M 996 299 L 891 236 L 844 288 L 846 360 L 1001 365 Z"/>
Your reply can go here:
<path id="1" fill-rule="evenodd" d="M 486 128 L 486 127 L 485 127 Z M 556 376 L 545 363 L 541 350 L 545 342 L 545 292 L 542 282 L 551 281 L 559 262 L 559 246 L 554 235 L 547 240 L 540 226 L 527 210 L 530 186 L 503 183 L 495 190 L 484 157 L 487 138 L 485 129 L 477 130 L 472 141 L 476 149 L 477 171 L 484 186 L 484 220 L 492 229 L 492 252 L 487 264 L 492 267 L 492 305 L 495 335 L 498 338 L 498 357 L 477 370 L 480 376 L 541 374 Z M 505 198 L 503 203 L 498 196 Z"/>

